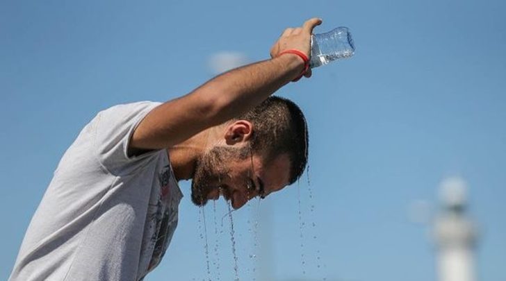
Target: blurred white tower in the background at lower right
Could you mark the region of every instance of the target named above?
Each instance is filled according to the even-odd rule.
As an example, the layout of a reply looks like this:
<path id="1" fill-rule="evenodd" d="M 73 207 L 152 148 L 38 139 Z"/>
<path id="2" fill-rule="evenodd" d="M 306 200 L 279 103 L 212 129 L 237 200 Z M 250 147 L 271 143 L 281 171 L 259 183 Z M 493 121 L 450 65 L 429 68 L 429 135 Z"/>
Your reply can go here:
<path id="1" fill-rule="evenodd" d="M 466 216 L 466 182 L 448 178 L 440 188 L 442 210 L 434 226 L 439 281 L 475 281 L 473 252 L 478 235 Z"/>

